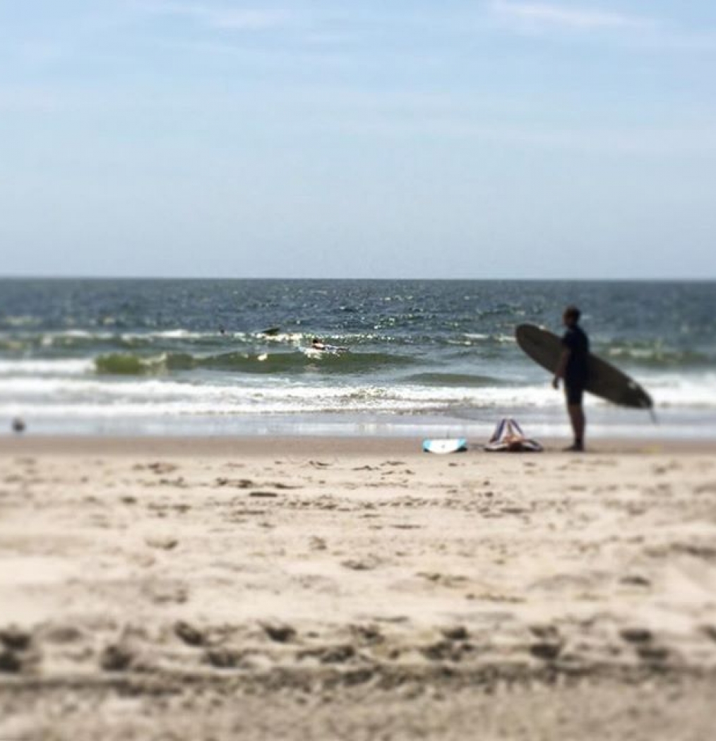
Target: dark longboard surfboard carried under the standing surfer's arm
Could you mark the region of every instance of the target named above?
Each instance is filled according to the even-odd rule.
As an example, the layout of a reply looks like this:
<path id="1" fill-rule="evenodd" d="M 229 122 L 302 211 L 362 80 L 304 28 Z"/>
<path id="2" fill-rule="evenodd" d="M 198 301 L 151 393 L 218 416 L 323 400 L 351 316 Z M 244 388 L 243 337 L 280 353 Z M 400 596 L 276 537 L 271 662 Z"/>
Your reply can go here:
<path id="1" fill-rule="evenodd" d="M 557 370 L 562 355 L 562 340 L 548 330 L 535 325 L 520 325 L 514 333 L 517 345 L 537 365 L 550 373 Z M 589 353 L 586 391 L 612 404 L 634 409 L 651 409 L 652 397 L 636 382 L 614 365 Z"/>

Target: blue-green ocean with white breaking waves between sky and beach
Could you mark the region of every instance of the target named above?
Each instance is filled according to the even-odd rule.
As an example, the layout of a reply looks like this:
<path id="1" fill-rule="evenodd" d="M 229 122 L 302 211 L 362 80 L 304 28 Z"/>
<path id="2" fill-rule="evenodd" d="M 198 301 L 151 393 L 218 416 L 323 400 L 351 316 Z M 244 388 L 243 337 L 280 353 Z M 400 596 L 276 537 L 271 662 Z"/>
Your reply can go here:
<path id="1" fill-rule="evenodd" d="M 589 398 L 589 435 L 716 437 L 715 282 L 420 280 L 2 279 L 0 434 L 567 436 L 514 328 L 569 303 L 657 416 Z"/>

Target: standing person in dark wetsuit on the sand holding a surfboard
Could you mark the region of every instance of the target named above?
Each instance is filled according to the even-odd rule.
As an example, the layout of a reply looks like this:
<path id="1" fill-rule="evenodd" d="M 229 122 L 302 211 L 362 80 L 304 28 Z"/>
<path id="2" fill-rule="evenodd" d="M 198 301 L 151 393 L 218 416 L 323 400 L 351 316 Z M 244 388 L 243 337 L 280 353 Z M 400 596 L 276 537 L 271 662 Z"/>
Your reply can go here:
<path id="1" fill-rule="evenodd" d="M 574 452 L 584 450 L 587 425 L 582 399 L 587 385 L 589 337 L 579 325 L 580 316 L 581 312 L 576 306 L 568 306 L 564 310 L 562 321 L 566 332 L 562 337 L 562 356 L 552 381 L 554 388 L 560 388 L 560 381 L 564 382 L 567 413 L 574 432 L 574 443 L 566 450 Z"/>

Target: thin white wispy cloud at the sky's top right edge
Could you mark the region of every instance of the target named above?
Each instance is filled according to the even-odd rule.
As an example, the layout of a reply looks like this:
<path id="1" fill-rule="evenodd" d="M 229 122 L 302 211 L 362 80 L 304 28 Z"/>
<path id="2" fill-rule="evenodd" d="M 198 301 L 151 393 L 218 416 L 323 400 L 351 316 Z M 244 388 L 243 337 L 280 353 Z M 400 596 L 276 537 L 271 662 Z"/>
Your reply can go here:
<path id="1" fill-rule="evenodd" d="M 653 26 L 653 21 L 641 16 L 574 5 L 493 0 L 491 10 L 503 21 L 532 29 L 643 30 Z"/>

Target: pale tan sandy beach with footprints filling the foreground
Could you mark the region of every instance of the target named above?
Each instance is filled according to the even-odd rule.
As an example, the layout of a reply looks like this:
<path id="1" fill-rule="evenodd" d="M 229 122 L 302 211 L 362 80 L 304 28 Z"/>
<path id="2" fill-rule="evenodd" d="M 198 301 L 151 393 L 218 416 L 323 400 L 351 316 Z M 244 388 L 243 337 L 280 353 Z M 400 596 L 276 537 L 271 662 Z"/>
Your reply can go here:
<path id="1" fill-rule="evenodd" d="M 716 445 L 0 440 L 0 740 L 716 735 Z"/>

